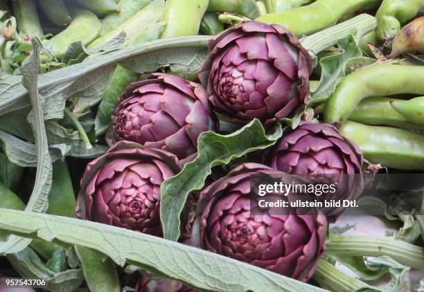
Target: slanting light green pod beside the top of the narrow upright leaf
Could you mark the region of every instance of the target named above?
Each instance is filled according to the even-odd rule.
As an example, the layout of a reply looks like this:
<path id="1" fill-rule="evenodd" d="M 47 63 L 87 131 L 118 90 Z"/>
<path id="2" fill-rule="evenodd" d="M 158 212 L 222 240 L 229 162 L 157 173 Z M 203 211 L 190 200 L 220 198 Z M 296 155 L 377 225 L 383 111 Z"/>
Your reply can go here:
<path id="1" fill-rule="evenodd" d="M 64 57 L 68 47 L 74 42 L 81 42 L 87 46 L 96 39 L 100 32 L 100 20 L 93 12 L 76 9 L 72 16 L 71 24 L 46 42 L 46 46 L 51 48 L 55 57 Z"/>

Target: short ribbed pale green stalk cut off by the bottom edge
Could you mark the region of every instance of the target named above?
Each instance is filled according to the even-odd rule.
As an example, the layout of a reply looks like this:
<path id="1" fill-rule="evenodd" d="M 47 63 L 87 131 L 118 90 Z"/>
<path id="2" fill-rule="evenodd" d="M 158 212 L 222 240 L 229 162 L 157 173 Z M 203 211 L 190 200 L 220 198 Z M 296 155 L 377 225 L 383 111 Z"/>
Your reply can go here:
<path id="1" fill-rule="evenodd" d="M 368 284 L 339 271 L 338 268 L 322 258 L 319 259 L 313 279 L 318 282 L 321 288 L 329 291 L 357 291 L 364 287 L 369 287 Z"/>

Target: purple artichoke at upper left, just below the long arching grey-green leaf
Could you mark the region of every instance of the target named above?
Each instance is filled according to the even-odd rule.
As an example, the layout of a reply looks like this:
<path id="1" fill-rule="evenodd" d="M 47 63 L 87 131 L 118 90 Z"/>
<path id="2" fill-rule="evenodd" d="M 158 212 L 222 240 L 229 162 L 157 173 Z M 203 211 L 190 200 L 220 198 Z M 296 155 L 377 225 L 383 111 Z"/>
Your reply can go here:
<path id="1" fill-rule="evenodd" d="M 200 133 L 216 129 L 206 91 L 174 75 L 153 73 L 127 86 L 112 116 L 114 142 L 129 140 L 186 158 Z"/>

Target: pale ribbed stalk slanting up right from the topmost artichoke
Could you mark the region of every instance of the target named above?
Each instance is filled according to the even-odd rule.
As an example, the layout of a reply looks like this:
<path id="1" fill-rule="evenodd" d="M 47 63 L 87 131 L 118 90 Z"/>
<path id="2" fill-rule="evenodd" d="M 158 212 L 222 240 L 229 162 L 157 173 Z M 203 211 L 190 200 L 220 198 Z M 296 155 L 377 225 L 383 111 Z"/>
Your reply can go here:
<path id="1" fill-rule="evenodd" d="M 333 46 L 339 39 L 344 39 L 344 37 L 348 35 L 354 35 L 357 42 L 359 42 L 362 36 L 374 30 L 376 27 L 376 17 L 362 14 L 353 17 L 353 19 L 344 21 L 341 24 L 337 24 L 337 26 L 332 26 L 325 30 L 321 30 L 319 33 L 303 37 L 301 39 L 301 44 L 313 56 Z"/>

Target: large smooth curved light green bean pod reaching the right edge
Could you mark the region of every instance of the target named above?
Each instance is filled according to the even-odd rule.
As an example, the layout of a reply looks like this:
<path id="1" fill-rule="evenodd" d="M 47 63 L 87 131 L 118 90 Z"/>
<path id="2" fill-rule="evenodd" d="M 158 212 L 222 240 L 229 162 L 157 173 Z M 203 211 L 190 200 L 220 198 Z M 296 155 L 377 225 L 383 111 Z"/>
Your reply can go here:
<path id="1" fill-rule="evenodd" d="M 362 99 L 371 96 L 424 94 L 423 80 L 424 66 L 379 64 L 357 70 L 344 77 L 326 100 L 324 120 L 342 124 Z"/>

